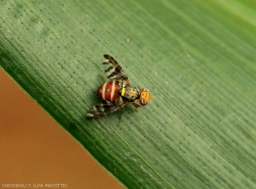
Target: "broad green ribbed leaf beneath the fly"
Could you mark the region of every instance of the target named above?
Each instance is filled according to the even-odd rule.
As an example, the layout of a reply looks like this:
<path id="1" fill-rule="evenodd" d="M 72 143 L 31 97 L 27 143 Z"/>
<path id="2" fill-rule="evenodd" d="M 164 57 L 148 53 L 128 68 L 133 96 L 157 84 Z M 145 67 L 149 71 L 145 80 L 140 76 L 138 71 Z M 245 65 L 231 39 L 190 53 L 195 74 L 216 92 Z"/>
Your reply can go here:
<path id="1" fill-rule="evenodd" d="M 0 65 L 130 188 L 256 187 L 256 4 L 0 1 Z M 95 121 L 103 54 L 154 102 Z"/>

